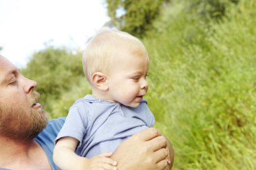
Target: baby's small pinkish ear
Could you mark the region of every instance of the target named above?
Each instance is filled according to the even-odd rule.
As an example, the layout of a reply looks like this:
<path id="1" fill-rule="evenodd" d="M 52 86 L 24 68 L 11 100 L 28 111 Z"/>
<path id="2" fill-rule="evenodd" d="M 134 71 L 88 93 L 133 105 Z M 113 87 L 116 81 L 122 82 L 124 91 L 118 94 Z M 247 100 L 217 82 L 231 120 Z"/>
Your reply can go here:
<path id="1" fill-rule="evenodd" d="M 100 90 L 108 90 L 108 83 L 106 80 L 106 75 L 101 72 L 96 72 L 92 75 L 92 83 L 94 83 L 94 86 Z"/>

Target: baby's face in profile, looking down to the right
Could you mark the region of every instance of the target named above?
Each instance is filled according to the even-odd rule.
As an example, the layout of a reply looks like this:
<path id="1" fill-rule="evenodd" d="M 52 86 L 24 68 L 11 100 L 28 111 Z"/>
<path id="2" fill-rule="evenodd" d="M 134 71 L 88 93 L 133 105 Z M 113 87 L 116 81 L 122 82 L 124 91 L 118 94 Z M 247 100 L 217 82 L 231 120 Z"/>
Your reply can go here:
<path id="1" fill-rule="evenodd" d="M 148 91 L 148 54 L 123 54 L 107 76 L 108 99 L 137 108 Z"/>

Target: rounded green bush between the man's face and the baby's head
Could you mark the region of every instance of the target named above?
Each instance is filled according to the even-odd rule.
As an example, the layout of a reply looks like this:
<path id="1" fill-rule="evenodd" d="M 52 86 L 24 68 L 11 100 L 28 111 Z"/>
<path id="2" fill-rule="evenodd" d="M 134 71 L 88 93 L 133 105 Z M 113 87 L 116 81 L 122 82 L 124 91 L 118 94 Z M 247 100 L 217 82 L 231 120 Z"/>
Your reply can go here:
<path id="1" fill-rule="evenodd" d="M 41 94 L 40 102 L 51 113 L 53 103 L 84 75 L 82 54 L 72 54 L 65 49 L 49 47 L 34 53 L 22 73 L 37 81 L 36 90 Z"/>

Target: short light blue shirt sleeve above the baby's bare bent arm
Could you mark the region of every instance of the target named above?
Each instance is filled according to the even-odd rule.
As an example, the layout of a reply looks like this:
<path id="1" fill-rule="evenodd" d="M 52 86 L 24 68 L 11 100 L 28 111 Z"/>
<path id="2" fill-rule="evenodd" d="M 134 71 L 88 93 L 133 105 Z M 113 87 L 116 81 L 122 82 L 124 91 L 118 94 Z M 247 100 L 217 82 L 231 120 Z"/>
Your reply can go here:
<path id="1" fill-rule="evenodd" d="M 86 115 L 86 110 L 82 102 L 72 105 L 69 108 L 69 114 L 67 115 L 65 124 L 55 140 L 55 144 L 59 138 L 69 136 L 77 139 L 80 145 L 86 134 L 86 126 L 88 125 Z"/>

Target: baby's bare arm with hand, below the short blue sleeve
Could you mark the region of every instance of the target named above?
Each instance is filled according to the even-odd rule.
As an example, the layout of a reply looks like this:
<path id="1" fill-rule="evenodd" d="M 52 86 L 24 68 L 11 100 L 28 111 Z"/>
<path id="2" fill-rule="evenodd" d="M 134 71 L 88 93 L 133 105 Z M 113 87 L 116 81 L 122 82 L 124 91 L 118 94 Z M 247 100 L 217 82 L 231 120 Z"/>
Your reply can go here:
<path id="1" fill-rule="evenodd" d="M 86 159 L 75 154 L 77 144 L 78 140 L 71 137 L 63 137 L 57 141 L 53 151 L 53 161 L 60 169 L 117 169 L 117 162 L 110 159 L 112 153 L 102 153 L 92 159 Z"/>

